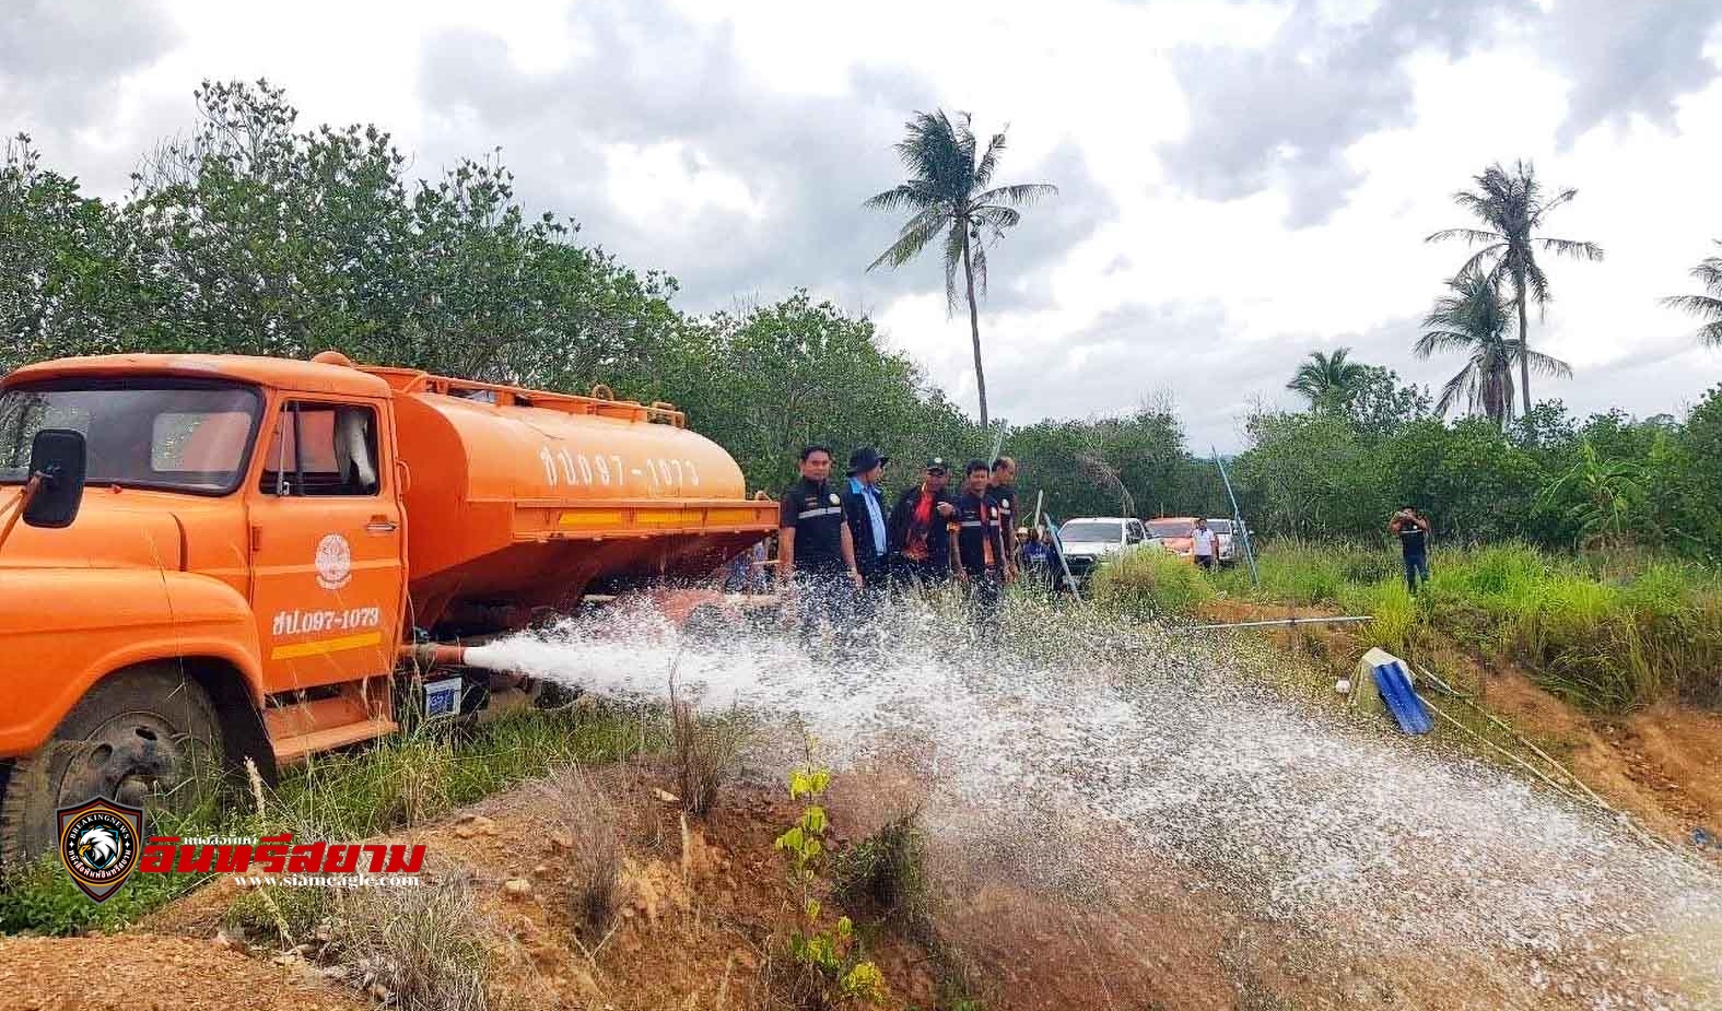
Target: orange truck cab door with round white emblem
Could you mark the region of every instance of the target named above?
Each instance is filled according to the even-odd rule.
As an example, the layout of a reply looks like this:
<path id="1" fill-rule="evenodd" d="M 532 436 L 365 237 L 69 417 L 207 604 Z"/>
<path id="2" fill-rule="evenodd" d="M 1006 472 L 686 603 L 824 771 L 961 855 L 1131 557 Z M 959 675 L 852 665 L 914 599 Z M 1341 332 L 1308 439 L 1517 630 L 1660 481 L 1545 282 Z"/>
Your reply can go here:
<path id="1" fill-rule="evenodd" d="M 250 489 L 251 610 L 269 691 L 394 668 L 401 508 L 377 405 L 282 401 Z"/>

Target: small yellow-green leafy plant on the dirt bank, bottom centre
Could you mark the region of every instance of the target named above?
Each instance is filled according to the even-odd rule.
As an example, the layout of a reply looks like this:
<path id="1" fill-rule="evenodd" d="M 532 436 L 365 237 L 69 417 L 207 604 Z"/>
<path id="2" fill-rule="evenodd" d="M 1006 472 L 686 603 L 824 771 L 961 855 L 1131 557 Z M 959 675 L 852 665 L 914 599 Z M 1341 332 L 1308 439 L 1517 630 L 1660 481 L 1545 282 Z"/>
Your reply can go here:
<path id="1" fill-rule="evenodd" d="M 885 999 L 885 975 L 871 961 L 858 958 L 854 923 L 839 916 L 820 928 L 821 902 L 813 894 L 818 871 L 825 865 L 825 837 L 830 822 L 820 797 L 832 782 L 827 768 L 811 761 L 789 773 L 789 797 L 804 801 L 801 816 L 771 844 L 789 859 L 790 887 L 801 902 L 801 923 L 789 937 L 789 956 L 801 968 L 799 997 L 804 1006 L 833 1008 L 844 1002 L 878 1004 Z"/>

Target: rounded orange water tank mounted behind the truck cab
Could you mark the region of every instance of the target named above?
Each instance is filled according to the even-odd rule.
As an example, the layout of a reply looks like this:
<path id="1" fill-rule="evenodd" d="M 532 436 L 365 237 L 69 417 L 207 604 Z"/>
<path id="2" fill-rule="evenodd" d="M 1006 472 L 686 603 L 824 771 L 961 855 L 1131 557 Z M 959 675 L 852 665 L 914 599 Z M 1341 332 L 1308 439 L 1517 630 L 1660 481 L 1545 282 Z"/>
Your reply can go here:
<path id="1" fill-rule="evenodd" d="M 777 527 L 666 405 L 365 370 L 393 389 L 420 629 L 513 625 L 594 580 L 704 575 Z"/>

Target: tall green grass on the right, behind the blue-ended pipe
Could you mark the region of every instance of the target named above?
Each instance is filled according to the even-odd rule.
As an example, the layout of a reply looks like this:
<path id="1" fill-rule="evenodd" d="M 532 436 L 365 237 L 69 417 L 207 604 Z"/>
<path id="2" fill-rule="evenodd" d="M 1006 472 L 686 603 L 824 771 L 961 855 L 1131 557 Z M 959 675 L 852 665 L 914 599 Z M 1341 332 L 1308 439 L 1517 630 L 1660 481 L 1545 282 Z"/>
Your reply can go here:
<path id="1" fill-rule="evenodd" d="M 1543 687 L 1601 713 L 1670 696 L 1722 703 L 1722 579 L 1651 555 L 1550 555 L 1524 544 L 1436 549 L 1405 592 L 1391 551 L 1281 541 L 1214 577 L 1230 596 L 1367 613 L 1371 646 L 1405 649 L 1440 632 L 1526 667 Z"/>

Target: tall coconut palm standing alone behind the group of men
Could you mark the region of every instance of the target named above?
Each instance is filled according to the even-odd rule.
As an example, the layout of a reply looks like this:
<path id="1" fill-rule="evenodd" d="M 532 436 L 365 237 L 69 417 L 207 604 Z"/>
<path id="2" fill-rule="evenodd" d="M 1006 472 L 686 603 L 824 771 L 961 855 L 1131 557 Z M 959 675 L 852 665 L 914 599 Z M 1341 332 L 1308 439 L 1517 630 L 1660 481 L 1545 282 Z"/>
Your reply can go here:
<path id="1" fill-rule="evenodd" d="M 994 186 L 992 174 L 1004 153 L 1004 133 L 992 134 L 987 152 L 976 157 L 969 114 L 952 121 L 944 110 L 916 112 L 906 122 L 907 136 L 897 143 L 897 157 L 909 171 L 909 181 L 875 195 L 863 207 L 907 210 L 897 241 L 868 265 L 902 267 L 921 255 L 940 234 L 945 260 L 945 303 L 957 308 L 957 265 L 968 286 L 969 332 L 975 338 L 975 389 L 980 394 L 980 424 L 987 427 L 987 374 L 980 363 L 980 310 L 976 291 L 987 295 L 987 245 L 1016 227 L 1023 215 L 1016 210 L 1042 196 L 1057 195 L 1050 183 Z"/>

